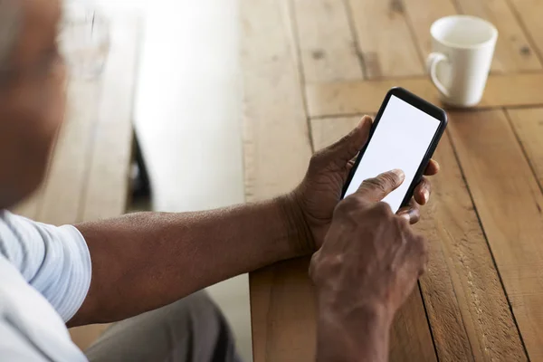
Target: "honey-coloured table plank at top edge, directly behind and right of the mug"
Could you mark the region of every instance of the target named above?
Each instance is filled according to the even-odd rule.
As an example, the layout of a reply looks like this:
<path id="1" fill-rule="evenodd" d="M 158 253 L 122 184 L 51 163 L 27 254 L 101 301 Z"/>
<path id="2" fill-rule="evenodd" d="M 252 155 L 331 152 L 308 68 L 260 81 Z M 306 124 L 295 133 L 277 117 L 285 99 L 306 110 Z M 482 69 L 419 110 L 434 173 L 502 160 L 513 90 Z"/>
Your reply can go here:
<path id="1" fill-rule="evenodd" d="M 491 71 L 538 71 L 538 55 L 513 14 L 507 0 L 456 0 L 462 14 L 479 16 L 488 20 L 500 33 Z"/>

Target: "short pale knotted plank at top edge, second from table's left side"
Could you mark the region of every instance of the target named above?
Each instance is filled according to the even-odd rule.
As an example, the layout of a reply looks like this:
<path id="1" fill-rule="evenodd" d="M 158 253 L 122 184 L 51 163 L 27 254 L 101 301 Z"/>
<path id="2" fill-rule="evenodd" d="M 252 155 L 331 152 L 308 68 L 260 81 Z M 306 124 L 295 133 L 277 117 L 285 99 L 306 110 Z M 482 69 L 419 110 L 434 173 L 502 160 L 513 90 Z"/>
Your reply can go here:
<path id="1" fill-rule="evenodd" d="M 304 80 L 363 79 L 345 3 L 338 0 L 293 0 L 293 6 Z"/>

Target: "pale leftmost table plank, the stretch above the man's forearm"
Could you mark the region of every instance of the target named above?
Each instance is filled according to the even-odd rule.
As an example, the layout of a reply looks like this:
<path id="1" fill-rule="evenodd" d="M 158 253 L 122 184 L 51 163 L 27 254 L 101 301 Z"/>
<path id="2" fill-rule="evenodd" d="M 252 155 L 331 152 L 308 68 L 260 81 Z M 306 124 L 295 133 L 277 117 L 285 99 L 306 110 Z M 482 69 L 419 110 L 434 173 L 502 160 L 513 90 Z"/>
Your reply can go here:
<path id="1" fill-rule="evenodd" d="M 243 0 L 241 5 L 248 201 L 279 195 L 296 186 L 311 157 L 296 46 L 291 43 L 291 20 L 285 18 L 285 6 L 285 1 L 273 0 Z"/>

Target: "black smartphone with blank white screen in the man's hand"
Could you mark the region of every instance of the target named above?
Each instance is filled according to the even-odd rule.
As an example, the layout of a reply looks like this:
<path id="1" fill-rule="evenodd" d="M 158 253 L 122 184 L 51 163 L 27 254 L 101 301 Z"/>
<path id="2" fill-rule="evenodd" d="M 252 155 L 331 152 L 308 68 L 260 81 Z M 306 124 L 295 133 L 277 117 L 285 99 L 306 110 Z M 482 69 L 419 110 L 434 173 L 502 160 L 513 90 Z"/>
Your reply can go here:
<path id="1" fill-rule="evenodd" d="M 389 90 L 341 198 L 355 193 L 367 178 L 399 168 L 405 173 L 404 183 L 383 201 L 395 213 L 408 205 L 446 127 L 444 110 L 403 88 Z"/>

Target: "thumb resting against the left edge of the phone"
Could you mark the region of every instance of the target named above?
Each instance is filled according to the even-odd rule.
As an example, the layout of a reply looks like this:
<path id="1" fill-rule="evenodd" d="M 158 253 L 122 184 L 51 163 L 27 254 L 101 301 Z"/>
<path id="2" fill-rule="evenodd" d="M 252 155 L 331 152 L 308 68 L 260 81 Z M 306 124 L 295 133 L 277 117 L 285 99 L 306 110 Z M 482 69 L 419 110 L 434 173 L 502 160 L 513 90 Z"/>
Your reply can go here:
<path id="1" fill-rule="evenodd" d="M 367 142 L 372 124 L 371 117 L 362 117 L 356 129 L 351 130 L 347 136 L 339 139 L 338 142 L 329 147 L 329 152 L 327 152 L 329 156 L 345 163 L 357 156 L 357 153 Z"/>

